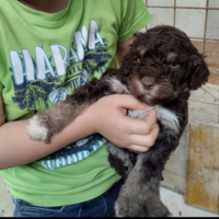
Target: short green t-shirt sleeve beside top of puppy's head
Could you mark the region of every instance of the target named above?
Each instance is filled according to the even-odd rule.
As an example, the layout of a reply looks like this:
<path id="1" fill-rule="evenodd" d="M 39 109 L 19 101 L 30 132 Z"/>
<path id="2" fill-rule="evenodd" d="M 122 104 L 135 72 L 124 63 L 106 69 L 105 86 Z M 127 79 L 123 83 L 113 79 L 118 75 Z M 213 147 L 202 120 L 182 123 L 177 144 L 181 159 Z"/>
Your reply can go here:
<path id="1" fill-rule="evenodd" d="M 119 43 L 128 41 L 150 22 L 150 14 L 142 0 L 122 0 L 120 10 Z"/>

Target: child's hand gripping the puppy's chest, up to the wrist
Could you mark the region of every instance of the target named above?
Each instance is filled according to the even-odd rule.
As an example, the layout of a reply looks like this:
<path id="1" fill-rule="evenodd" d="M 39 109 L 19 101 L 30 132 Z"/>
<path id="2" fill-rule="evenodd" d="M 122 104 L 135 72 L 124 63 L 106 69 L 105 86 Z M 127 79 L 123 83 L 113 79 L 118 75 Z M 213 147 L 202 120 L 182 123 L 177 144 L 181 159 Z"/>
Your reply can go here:
<path id="1" fill-rule="evenodd" d="M 153 146 L 159 134 L 155 111 L 150 111 L 142 120 L 127 116 L 126 108 L 147 107 L 131 95 L 104 96 L 85 112 L 88 126 L 92 132 L 100 132 L 118 147 L 146 152 Z"/>

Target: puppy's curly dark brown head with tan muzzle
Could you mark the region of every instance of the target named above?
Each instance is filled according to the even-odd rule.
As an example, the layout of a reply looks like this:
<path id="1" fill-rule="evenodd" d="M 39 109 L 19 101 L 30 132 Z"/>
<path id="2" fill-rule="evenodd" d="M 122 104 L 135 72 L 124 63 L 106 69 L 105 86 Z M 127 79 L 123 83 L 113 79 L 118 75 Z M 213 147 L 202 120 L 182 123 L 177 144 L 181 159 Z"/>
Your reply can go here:
<path id="1" fill-rule="evenodd" d="M 163 104 L 205 84 L 209 70 L 184 32 L 162 25 L 136 35 L 120 73 L 132 95 Z"/>

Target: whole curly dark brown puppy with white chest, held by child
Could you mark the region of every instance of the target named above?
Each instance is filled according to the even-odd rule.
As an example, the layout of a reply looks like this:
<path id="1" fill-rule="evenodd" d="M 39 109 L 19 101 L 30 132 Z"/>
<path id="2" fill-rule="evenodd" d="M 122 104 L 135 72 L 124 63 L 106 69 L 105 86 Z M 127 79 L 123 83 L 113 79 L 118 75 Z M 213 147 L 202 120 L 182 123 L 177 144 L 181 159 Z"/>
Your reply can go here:
<path id="1" fill-rule="evenodd" d="M 153 147 L 139 154 L 112 142 L 106 147 L 111 165 L 126 180 L 115 203 L 116 216 L 166 217 L 171 214 L 159 194 L 162 171 L 187 125 L 191 90 L 205 84 L 208 76 L 204 56 L 184 32 L 166 25 L 155 26 L 136 35 L 118 70 L 110 69 L 102 79 L 93 79 L 65 101 L 35 115 L 30 119 L 27 134 L 32 139 L 49 142 L 53 134 L 104 95 L 132 94 L 152 105 L 160 125 Z M 143 118 L 147 111 L 128 114 Z"/>

